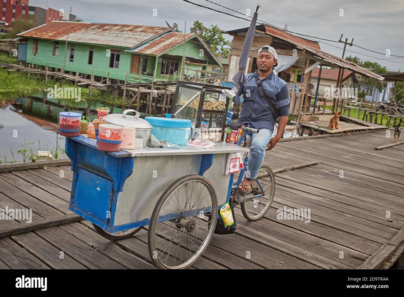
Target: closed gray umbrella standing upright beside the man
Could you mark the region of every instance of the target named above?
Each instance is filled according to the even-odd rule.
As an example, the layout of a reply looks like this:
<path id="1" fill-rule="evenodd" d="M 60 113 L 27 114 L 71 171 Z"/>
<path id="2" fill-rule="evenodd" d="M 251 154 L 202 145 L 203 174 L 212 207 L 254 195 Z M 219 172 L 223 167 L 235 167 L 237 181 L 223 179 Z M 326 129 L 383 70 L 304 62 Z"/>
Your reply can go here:
<path id="1" fill-rule="evenodd" d="M 257 12 L 258 12 L 259 6 L 260 5 L 258 4 L 257 9 L 256 9 L 254 15 L 252 16 L 250 27 L 248 28 L 246 38 L 244 39 L 244 44 L 243 44 L 243 49 L 241 51 L 240 60 L 238 61 L 238 71 L 233 78 L 233 82 L 234 82 L 233 90 L 234 90 L 234 92 L 236 92 L 236 94 L 240 90 L 240 86 L 247 82 L 246 75 L 244 74 L 244 69 L 246 68 L 248 53 L 250 52 L 252 40 L 254 39 L 254 36 L 255 36 L 255 25 L 257 23 L 257 17 L 258 17 Z"/>

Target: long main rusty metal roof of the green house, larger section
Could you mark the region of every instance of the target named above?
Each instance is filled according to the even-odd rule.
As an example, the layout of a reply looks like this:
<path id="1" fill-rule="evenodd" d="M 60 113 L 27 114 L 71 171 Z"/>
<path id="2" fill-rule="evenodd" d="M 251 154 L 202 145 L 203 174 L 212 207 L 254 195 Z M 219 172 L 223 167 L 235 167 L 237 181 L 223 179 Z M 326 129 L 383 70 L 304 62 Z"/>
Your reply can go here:
<path id="1" fill-rule="evenodd" d="M 167 27 L 53 21 L 18 34 L 24 37 L 132 47 L 167 31 Z"/>

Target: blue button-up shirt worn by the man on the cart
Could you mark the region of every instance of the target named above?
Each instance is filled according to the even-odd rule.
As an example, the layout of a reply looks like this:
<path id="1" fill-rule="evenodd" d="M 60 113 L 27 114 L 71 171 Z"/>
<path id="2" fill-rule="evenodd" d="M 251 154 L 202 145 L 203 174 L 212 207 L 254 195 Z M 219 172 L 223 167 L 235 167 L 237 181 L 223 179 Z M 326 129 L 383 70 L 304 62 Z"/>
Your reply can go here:
<path id="1" fill-rule="evenodd" d="M 259 95 L 259 90 L 255 77 L 259 77 L 258 70 L 246 75 L 247 82 L 240 87 L 240 91 L 234 98 L 235 103 L 240 103 L 240 96 L 243 95 L 244 101 L 237 122 L 241 124 L 252 124 L 254 128 L 268 128 L 274 131 L 274 118 L 271 108 L 263 96 Z M 288 85 L 284 80 L 271 72 L 261 80 L 265 93 L 269 97 L 276 99 L 279 107 L 280 116 L 289 115 L 290 97 Z"/>

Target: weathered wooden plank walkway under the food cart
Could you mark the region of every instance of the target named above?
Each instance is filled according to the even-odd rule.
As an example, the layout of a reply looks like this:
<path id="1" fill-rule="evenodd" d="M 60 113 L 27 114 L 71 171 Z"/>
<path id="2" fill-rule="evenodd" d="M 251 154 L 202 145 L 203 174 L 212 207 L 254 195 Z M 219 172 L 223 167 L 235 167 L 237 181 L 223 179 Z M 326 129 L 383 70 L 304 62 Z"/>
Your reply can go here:
<path id="1" fill-rule="evenodd" d="M 391 267 L 404 251 L 400 240 L 404 233 L 400 232 L 404 227 L 404 146 L 374 150 L 392 143 L 393 138 L 385 135 L 375 131 L 279 142 L 264 160 L 273 170 L 320 164 L 277 173 L 274 202 L 265 217 L 250 222 L 236 208 L 236 234 L 213 236 L 193 268 Z M 31 208 L 38 225 L 44 219 L 71 214 L 67 206 L 72 173 L 70 166 L 62 164 L 48 162 L 44 168 L 0 172 L 0 208 Z M 310 222 L 278 219 L 277 210 L 284 207 L 310 209 Z M 19 224 L 25 222 L 0 220 L 0 229 Z M 146 229 L 112 242 L 82 220 L 1 237 L 0 268 L 154 267 Z"/>

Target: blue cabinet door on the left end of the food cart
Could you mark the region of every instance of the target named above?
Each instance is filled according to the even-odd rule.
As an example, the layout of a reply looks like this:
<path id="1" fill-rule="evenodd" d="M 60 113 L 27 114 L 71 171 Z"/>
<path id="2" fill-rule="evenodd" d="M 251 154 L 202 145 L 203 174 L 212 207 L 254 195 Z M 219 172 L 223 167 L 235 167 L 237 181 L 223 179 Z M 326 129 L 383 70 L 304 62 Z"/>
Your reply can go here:
<path id="1" fill-rule="evenodd" d="M 76 208 L 107 223 L 111 217 L 108 215 L 108 211 L 111 211 L 111 194 L 111 181 L 78 167 L 73 199 Z"/>

